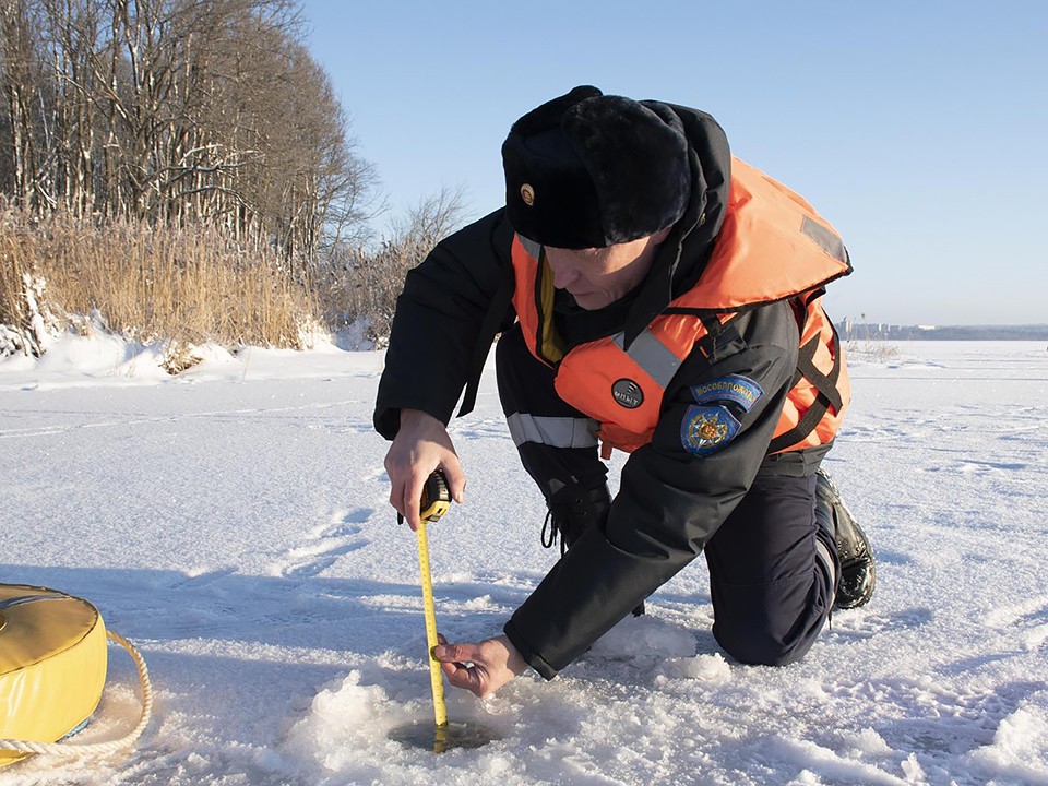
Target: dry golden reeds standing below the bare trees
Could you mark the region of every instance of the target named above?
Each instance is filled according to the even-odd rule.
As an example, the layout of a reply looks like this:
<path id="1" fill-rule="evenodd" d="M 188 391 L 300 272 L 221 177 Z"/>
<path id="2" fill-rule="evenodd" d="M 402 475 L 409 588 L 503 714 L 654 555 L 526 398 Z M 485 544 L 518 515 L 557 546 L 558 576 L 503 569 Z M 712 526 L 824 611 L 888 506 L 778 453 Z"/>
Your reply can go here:
<path id="1" fill-rule="evenodd" d="M 100 315 L 143 343 L 301 348 L 315 322 L 308 288 L 276 254 L 210 226 L 96 227 L 0 211 L 0 324 L 23 331 L 26 273 L 46 282 L 52 312 Z"/>

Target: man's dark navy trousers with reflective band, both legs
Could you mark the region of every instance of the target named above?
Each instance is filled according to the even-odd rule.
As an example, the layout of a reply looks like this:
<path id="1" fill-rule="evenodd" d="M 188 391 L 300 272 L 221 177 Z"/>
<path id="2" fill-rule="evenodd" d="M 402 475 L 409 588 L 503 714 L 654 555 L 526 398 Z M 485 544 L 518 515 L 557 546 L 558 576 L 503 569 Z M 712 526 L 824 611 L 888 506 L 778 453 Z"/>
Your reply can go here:
<path id="1" fill-rule="evenodd" d="M 496 370 L 521 461 L 547 500 L 565 487 L 603 484 L 607 468 L 596 441 L 577 437 L 592 421 L 560 400 L 551 369 L 532 357 L 520 325 L 499 340 Z M 514 429 L 522 419 L 538 425 Z M 562 438 L 569 424 L 575 427 L 571 441 Z M 814 476 L 759 475 L 706 543 L 713 634 L 741 663 L 798 660 L 829 617 L 838 568 L 817 556 L 817 543 L 833 560 L 836 547 L 815 522 L 814 496 Z"/>

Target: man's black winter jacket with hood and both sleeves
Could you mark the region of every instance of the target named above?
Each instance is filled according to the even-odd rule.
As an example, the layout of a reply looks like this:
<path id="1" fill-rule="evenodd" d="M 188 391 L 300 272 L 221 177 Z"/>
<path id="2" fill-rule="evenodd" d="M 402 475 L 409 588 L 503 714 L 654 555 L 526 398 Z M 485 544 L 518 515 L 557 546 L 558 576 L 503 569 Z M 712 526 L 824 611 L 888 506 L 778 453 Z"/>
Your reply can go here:
<path id="1" fill-rule="evenodd" d="M 692 200 L 659 247 L 646 278 L 623 303 L 563 317 L 571 338 L 626 331 L 632 341 L 669 301 L 699 281 L 724 219 L 730 155 L 704 112 L 671 107 L 692 143 Z M 420 409 L 448 424 L 477 355 L 481 324 L 512 276 L 513 230 L 497 211 L 448 237 L 405 282 L 379 384 L 376 429 L 396 434 L 400 410 Z M 497 329 L 512 325 L 507 306 Z M 527 663 L 552 678 L 701 551 L 759 472 L 808 475 L 826 446 L 767 457 L 797 364 L 793 308 L 773 302 L 734 321 L 715 359 L 693 352 L 666 390 L 651 444 L 631 454 L 606 526 L 585 533 L 505 626 Z M 480 341 L 489 342 L 490 336 Z M 764 395 L 740 413 L 741 428 L 718 451 L 698 457 L 681 443 L 690 386 L 734 373 Z M 418 380 L 426 380 L 425 385 Z"/>

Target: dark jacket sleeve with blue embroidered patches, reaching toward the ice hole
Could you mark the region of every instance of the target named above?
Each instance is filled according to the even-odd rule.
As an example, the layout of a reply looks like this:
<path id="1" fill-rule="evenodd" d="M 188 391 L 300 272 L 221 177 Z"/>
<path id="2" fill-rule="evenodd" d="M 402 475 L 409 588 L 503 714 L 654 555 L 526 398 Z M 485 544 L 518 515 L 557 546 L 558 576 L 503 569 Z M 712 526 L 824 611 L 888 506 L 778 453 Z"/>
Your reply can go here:
<path id="1" fill-rule="evenodd" d="M 652 442 L 626 463 L 605 531 L 587 531 L 505 624 L 547 679 L 691 562 L 753 483 L 793 385 L 799 340 L 787 303 L 737 324 L 717 360 L 696 349 L 676 374 Z M 746 395 L 718 398 L 740 381 Z M 688 425 L 707 414 L 725 430 L 710 445 L 687 439 Z"/>

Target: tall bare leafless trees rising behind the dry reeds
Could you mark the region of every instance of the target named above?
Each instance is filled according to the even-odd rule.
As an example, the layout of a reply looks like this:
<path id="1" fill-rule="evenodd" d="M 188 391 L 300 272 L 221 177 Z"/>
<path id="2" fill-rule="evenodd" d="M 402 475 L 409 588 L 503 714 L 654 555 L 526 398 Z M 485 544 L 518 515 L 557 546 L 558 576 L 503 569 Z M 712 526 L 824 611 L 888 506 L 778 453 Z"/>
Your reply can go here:
<path id="1" fill-rule="evenodd" d="M 0 0 L 0 191 L 209 222 L 311 259 L 364 230 L 358 157 L 290 0 Z"/>

